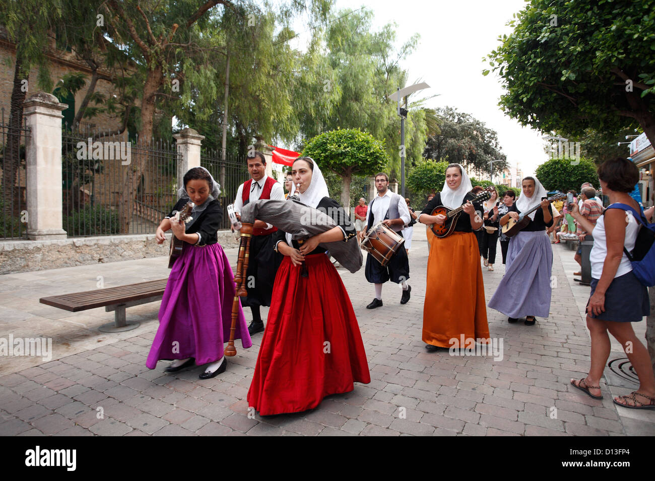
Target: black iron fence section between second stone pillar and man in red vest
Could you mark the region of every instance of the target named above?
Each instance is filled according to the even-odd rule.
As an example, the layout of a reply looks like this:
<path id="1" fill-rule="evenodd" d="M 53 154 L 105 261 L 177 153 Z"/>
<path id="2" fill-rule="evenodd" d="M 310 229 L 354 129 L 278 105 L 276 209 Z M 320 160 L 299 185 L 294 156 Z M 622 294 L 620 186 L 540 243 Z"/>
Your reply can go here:
<path id="1" fill-rule="evenodd" d="M 219 201 L 223 208 L 223 221 L 221 221 L 219 228 L 229 229 L 230 220 L 227 217 L 227 205 L 234 203 L 236 190 L 242 183 L 250 179 L 246 161 L 231 152 L 226 152 L 225 160 L 223 160 L 219 151 L 202 150 L 200 152 L 200 165 L 210 171 L 215 181 L 221 185 Z"/>

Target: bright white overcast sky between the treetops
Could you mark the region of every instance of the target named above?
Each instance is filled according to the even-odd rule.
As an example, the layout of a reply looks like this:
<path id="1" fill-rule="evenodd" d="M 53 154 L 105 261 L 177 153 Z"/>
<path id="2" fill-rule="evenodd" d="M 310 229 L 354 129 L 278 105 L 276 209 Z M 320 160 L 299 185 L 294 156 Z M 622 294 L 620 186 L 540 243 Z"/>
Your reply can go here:
<path id="1" fill-rule="evenodd" d="M 483 63 L 499 45 L 498 35 L 510 33 L 505 24 L 526 5 L 523 0 L 337 0 L 339 9 L 358 9 L 364 5 L 375 12 L 373 29 L 395 22 L 398 45 L 419 33 L 417 49 L 402 63 L 409 73 L 409 84 L 427 82 L 427 107 L 449 105 L 470 113 L 498 132 L 502 151 L 512 165 L 519 164 L 524 175 L 548 160 L 536 130 L 523 128 L 503 115 L 498 107 L 502 88 L 493 74 L 483 77 Z M 422 92 L 414 94 L 415 99 Z M 411 101 L 410 97 L 410 101 Z"/>

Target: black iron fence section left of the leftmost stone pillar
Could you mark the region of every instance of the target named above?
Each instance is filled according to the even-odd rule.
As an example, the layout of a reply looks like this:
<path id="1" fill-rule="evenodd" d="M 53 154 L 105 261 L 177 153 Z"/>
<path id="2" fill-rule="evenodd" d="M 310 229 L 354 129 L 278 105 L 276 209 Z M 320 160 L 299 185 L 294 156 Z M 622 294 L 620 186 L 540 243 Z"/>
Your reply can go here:
<path id="1" fill-rule="evenodd" d="M 5 109 L 0 109 L 0 238 L 7 240 L 28 237 L 25 145 L 29 128 L 24 125 L 23 118 L 20 126 L 11 126 Z"/>

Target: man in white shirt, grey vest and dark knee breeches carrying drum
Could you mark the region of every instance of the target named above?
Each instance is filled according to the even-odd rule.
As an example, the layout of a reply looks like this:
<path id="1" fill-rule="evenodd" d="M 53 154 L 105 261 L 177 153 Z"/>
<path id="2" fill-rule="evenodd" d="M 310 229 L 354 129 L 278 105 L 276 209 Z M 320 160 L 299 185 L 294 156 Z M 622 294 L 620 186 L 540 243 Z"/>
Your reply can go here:
<path id="1" fill-rule="evenodd" d="M 391 192 L 388 187 L 389 177 L 386 173 L 375 175 L 377 196 L 369 204 L 364 234 L 371 230 L 371 227 L 375 224 L 382 222 L 385 226 L 394 230 L 396 234 L 402 236 L 403 228 L 409 224 L 409 209 L 407 209 L 405 199 Z M 396 284 L 402 284 L 403 294 L 400 298 L 400 304 L 407 304 L 411 287 L 407 284 L 407 279 L 409 279 L 409 258 L 407 258 L 405 249 L 397 249 L 386 266 L 383 266 L 371 253 L 368 253 L 365 274 L 366 280 L 375 285 L 375 298 L 373 298 L 371 304 L 366 306 L 367 309 L 382 306 L 382 285 L 388 280 Z"/>

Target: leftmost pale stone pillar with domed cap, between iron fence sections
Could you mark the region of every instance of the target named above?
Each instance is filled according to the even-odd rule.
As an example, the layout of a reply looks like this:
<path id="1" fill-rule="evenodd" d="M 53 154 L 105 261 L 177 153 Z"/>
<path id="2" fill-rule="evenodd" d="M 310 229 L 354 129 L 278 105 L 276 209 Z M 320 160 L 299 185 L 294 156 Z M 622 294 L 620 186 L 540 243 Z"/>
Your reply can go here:
<path id="1" fill-rule="evenodd" d="M 24 101 L 26 137 L 28 238 L 66 238 L 62 228 L 62 111 L 68 108 L 52 94 L 37 92 Z"/>

